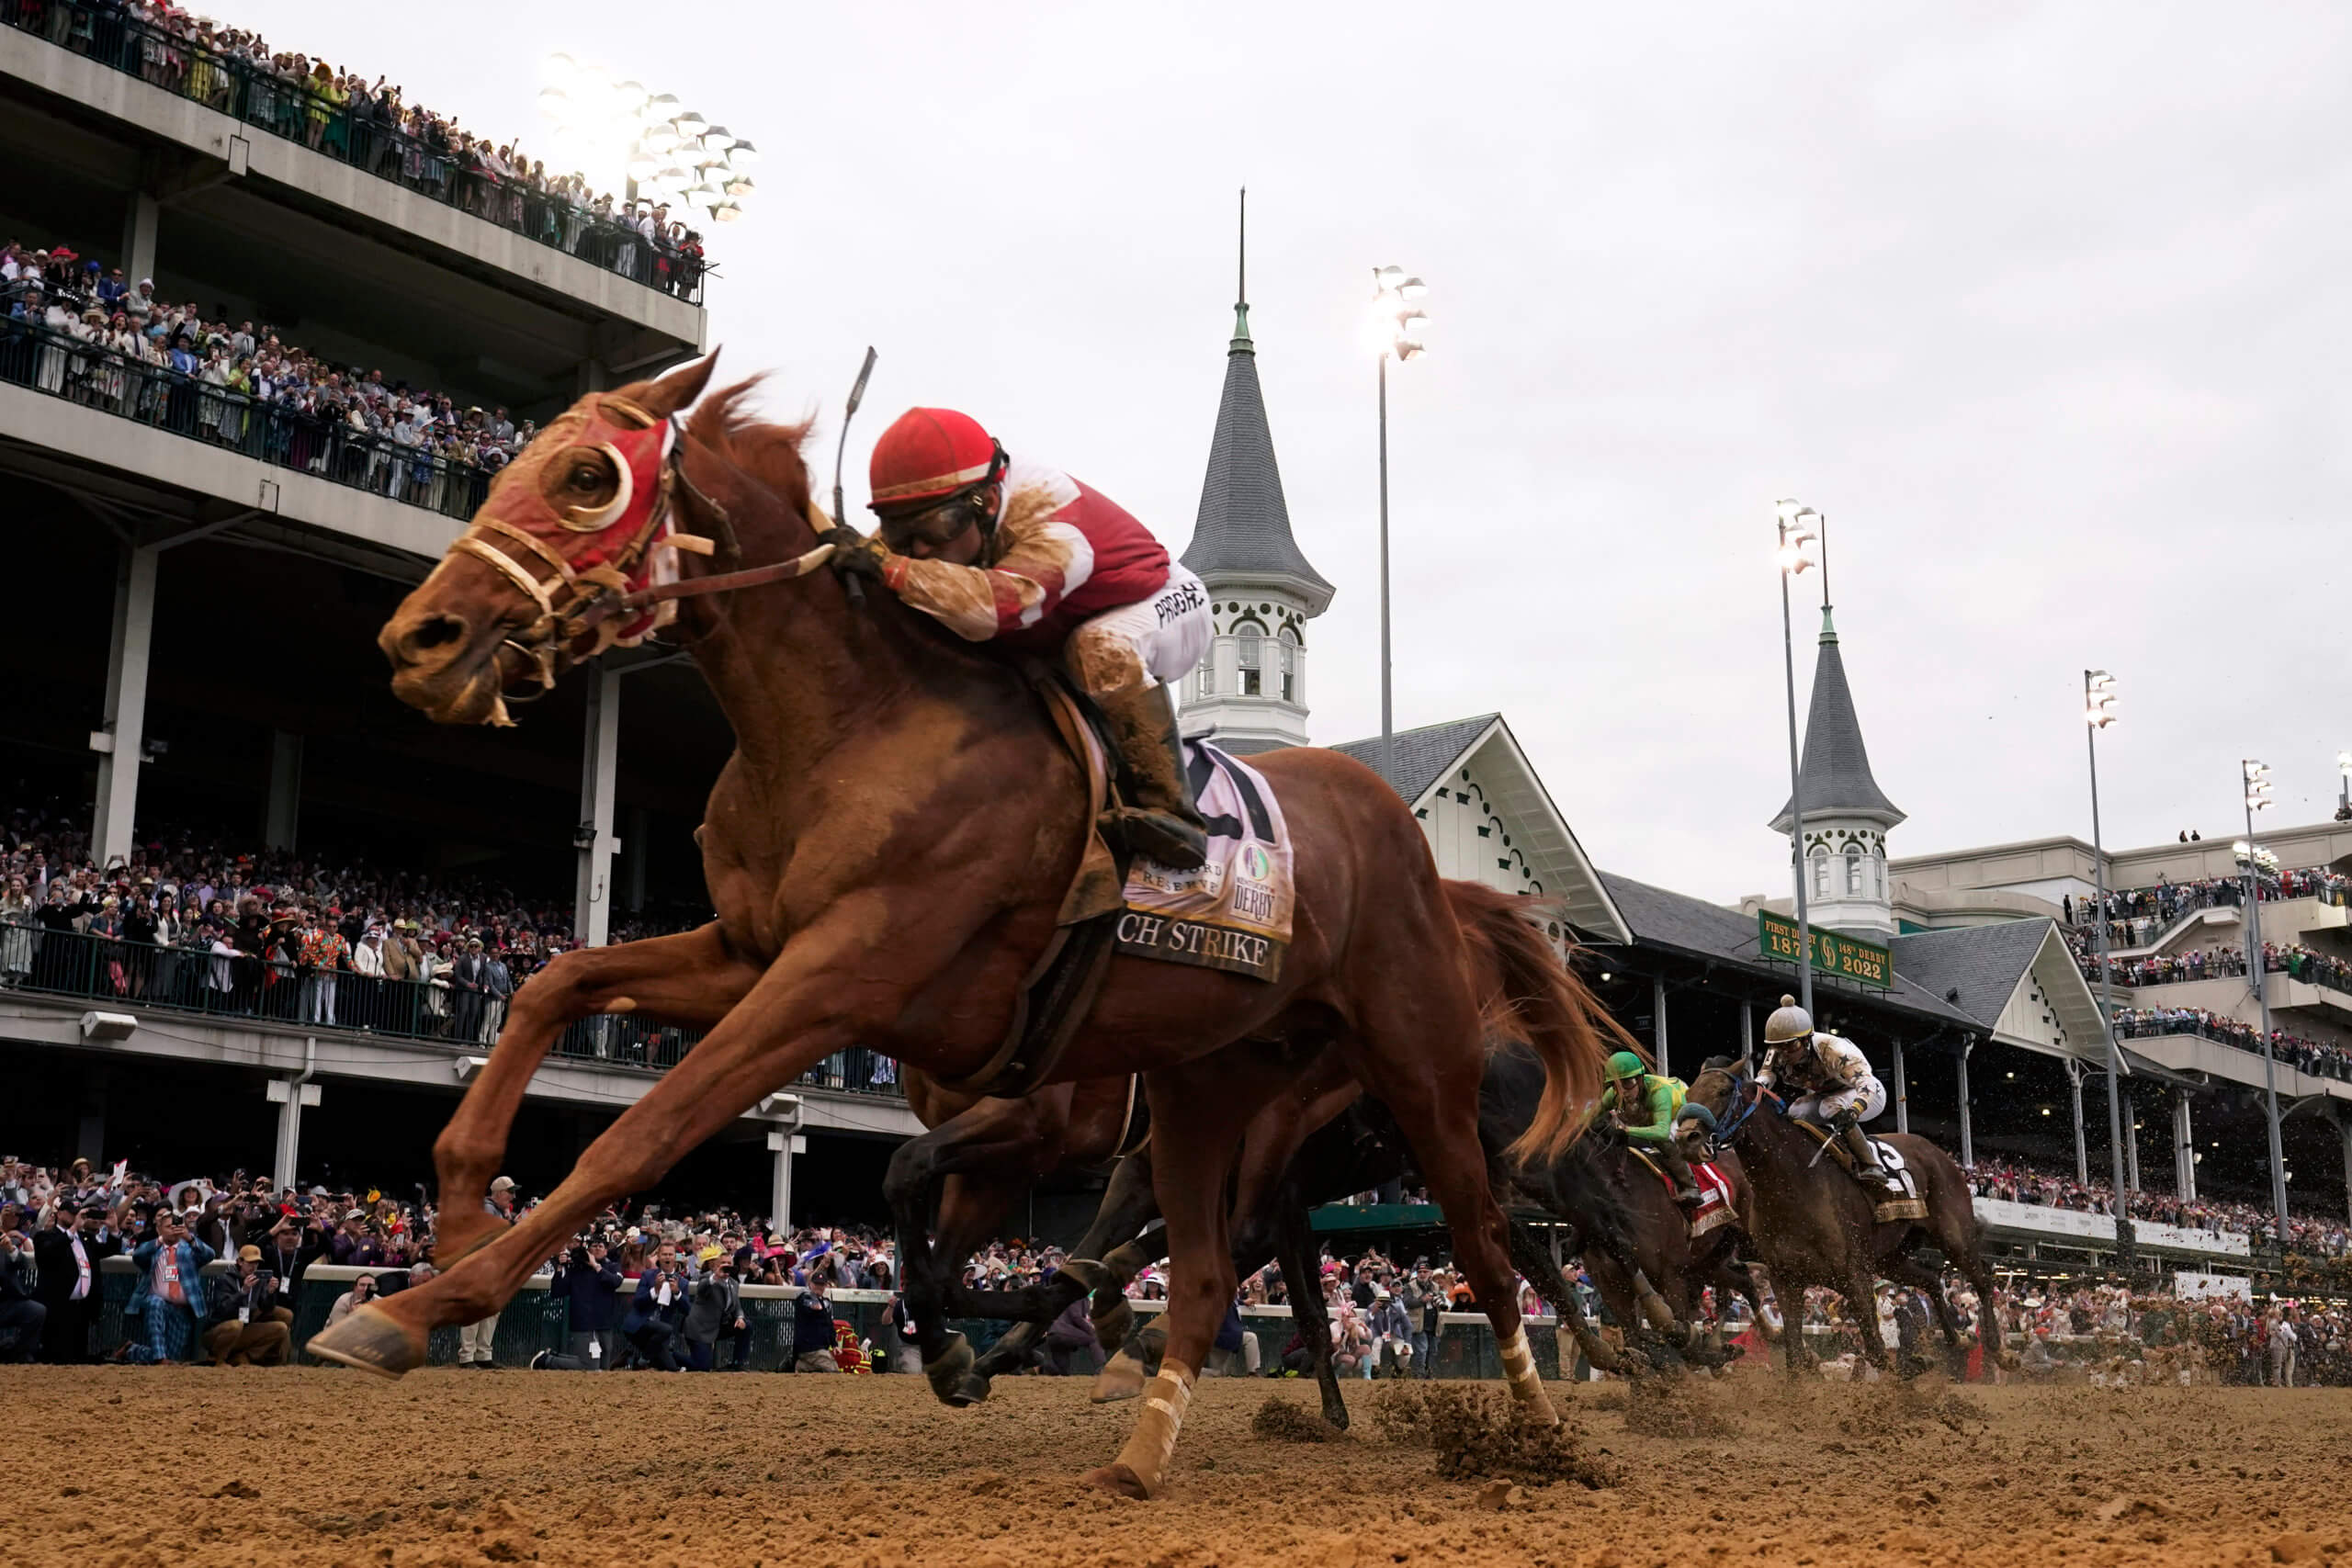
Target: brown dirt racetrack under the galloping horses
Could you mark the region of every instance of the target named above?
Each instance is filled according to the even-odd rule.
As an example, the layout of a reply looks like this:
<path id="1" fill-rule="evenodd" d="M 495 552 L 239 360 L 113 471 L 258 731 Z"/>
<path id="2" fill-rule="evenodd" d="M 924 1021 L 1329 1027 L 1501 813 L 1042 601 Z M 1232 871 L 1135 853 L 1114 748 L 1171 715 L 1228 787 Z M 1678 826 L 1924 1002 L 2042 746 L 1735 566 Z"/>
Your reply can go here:
<path id="1" fill-rule="evenodd" d="M 1254 1418 L 1312 1387 L 1209 1380 L 1169 1493 L 1127 1502 L 1077 1476 L 1134 1406 L 1056 1378 L 946 1410 L 920 1378 L 12 1366 L 0 1540 L 9 1568 L 2352 1566 L 2347 1389 L 1555 1385 L 1621 1479 L 1510 1490 L 1439 1479 L 1376 1387 L 1303 1443 Z"/>

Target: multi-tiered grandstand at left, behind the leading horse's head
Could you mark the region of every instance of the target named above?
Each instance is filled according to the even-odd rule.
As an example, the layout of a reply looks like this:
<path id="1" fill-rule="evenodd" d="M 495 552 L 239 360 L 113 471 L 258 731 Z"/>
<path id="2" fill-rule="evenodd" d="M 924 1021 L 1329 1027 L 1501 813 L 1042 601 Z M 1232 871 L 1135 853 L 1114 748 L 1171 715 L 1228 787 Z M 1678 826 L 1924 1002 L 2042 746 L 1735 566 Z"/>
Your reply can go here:
<path id="1" fill-rule="evenodd" d="M 0 703 L 7 849 L 87 832 L 113 882 L 198 844 L 327 893 L 383 867 L 510 891 L 586 943 L 696 919 L 729 733 L 689 668 L 647 649 L 515 731 L 447 731 L 393 703 L 374 632 L 517 430 L 706 346 L 699 259 L 522 186 L 489 200 L 233 59 L 167 73 L 141 26 L 0 12 L 0 494 L 33 672 Z M 167 317 L 191 329 L 139 331 Z M 0 1143 L 28 1159 L 172 1173 L 275 1147 L 280 1180 L 421 1182 L 487 1051 L 409 980 L 346 990 L 329 1025 L 294 990 L 216 1004 L 200 957 L 127 976 L 38 940 L 0 990 Z M 680 1044 L 574 1030 L 515 1175 L 546 1192 Z M 835 1063 L 673 1180 L 781 1201 L 797 1131 L 800 1201 L 866 1213 L 913 1128 L 887 1070 Z"/>

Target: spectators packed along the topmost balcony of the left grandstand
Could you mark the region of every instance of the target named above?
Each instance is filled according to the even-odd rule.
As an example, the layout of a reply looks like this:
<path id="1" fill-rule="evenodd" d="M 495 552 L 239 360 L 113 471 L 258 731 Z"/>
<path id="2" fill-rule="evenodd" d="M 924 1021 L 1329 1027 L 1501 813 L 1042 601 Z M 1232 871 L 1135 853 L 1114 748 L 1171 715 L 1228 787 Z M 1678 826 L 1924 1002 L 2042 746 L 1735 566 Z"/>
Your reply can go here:
<path id="1" fill-rule="evenodd" d="M 407 101 L 386 78 L 273 49 L 167 0 L 0 0 L 0 24 L 139 75 L 245 125 L 449 202 L 647 287 L 699 299 L 701 233 L 666 205 L 616 202 L 513 141 Z"/>

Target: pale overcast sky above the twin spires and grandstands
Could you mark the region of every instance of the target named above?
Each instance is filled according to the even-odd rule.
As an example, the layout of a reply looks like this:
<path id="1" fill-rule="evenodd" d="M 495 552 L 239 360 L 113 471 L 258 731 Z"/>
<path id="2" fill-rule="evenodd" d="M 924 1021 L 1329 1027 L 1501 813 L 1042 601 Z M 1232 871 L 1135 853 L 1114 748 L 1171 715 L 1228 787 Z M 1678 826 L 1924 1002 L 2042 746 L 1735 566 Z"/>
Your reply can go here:
<path id="1" fill-rule="evenodd" d="M 1378 729 L 1369 268 L 1392 376 L 1397 724 L 1503 710 L 1611 870 L 1785 889 L 1771 501 L 1830 517 L 1896 856 L 2281 823 L 2352 748 L 2352 45 L 2328 5 L 783 7 L 221 0 L 543 146 L 572 49 L 767 153 L 710 339 L 851 437 L 955 404 L 1192 531 L 1232 197 L 1308 557 L 1317 741 Z M 1818 609 L 1799 599 L 1799 682 Z M 1799 689 L 1799 701 L 1802 701 Z"/>

